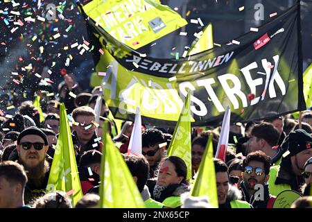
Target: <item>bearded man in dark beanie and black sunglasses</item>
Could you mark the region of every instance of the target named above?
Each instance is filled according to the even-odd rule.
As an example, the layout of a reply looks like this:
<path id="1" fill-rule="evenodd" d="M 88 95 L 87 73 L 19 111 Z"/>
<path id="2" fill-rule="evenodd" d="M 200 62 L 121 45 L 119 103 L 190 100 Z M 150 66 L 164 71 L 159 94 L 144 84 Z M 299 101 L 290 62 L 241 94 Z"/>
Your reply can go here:
<path id="1" fill-rule="evenodd" d="M 50 173 L 46 160 L 48 148 L 46 135 L 35 126 L 26 128 L 17 138 L 18 162 L 24 166 L 28 177 L 24 193 L 26 204 L 45 194 Z"/>

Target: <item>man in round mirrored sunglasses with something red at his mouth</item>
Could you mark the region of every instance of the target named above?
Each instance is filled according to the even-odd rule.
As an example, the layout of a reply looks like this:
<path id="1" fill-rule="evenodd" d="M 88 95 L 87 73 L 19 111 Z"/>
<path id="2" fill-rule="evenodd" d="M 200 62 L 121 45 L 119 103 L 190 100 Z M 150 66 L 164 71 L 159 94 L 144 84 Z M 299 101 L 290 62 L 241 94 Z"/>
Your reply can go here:
<path id="1" fill-rule="evenodd" d="M 243 160 L 242 200 L 250 203 L 253 208 L 272 208 L 276 197 L 268 191 L 269 173 L 270 157 L 262 151 L 249 153 Z"/>

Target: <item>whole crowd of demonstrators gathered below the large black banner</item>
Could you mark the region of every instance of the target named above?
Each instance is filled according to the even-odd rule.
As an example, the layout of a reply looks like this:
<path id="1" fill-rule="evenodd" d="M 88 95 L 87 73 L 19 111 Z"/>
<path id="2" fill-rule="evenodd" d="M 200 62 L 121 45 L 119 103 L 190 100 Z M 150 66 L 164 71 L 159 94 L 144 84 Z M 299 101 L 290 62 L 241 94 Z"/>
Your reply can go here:
<path id="1" fill-rule="evenodd" d="M 73 78 L 66 75 L 58 90 L 54 98 L 46 96 L 44 88 L 35 95 L 40 96 L 43 121 L 33 101 L 21 103 L 12 118 L 0 117 L 1 208 L 98 207 L 103 143 L 97 141 L 94 146 L 94 139 L 102 135 L 105 120 L 110 122 L 109 133 L 146 207 L 211 207 L 208 198 L 190 196 L 194 180 L 187 180 L 184 160 L 166 155 L 173 128 L 141 126 L 142 155 L 133 155 L 127 153 L 133 123 L 112 118 L 104 99 L 101 117 L 95 122 L 94 107 L 102 94 L 101 87 L 79 92 Z M 71 96 L 72 92 L 76 98 Z M 83 198 L 75 206 L 62 191 L 46 192 L 60 133 L 60 103 L 78 123 L 71 130 Z M 291 207 L 312 207 L 311 124 L 311 110 L 304 111 L 301 126 L 292 114 L 233 124 L 225 161 L 214 160 L 218 207 L 272 208 L 285 190 L 297 191 L 302 196 Z M 193 128 L 191 134 L 191 169 L 195 179 L 211 134 L 216 153 L 220 126 Z M 260 198 L 259 186 L 263 187 Z"/>

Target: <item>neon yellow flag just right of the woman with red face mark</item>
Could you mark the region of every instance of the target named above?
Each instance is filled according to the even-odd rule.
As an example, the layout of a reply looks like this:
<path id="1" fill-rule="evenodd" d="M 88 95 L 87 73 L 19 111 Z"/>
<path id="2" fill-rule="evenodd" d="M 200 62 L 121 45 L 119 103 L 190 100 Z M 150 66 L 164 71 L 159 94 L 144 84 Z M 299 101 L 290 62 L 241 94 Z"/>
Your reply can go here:
<path id="1" fill-rule="evenodd" d="M 197 172 L 191 196 L 208 196 L 212 207 L 218 208 L 218 192 L 216 188 L 216 171 L 214 170 L 214 148 L 212 134 L 209 135 L 207 146 L 202 155 L 202 162 Z"/>

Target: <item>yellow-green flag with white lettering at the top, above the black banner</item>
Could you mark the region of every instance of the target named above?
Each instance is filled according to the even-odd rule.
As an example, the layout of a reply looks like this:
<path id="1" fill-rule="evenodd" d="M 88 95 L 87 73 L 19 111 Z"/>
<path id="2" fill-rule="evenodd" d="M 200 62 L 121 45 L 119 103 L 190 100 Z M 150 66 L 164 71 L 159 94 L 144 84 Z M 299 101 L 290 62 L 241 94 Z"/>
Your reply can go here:
<path id="1" fill-rule="evenodd" d="M 84 3 L 83 3 L 84 4 Z M 177 12 L 159 1 L 93 0 L 85 13 L 119 42 L 138 49 L 187 24 Z"/>

